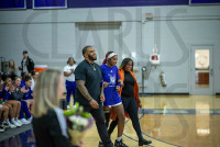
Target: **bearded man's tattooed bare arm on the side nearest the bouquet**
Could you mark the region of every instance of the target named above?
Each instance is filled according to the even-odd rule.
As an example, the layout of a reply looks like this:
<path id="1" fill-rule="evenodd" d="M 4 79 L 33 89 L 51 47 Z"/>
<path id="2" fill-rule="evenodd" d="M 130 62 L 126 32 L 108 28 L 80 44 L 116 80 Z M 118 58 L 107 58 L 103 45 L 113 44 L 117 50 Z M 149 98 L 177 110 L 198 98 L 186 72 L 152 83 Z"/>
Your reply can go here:
<path id="1" fill-rule="evenodd" d="M 79 89 L 80 93 L 84 95 L 84 98 L 86 98 L 91 108 L 92 109 L 99 109 L 99 104 L 97 103 L 97 101 L 95 101 L 91 95 L 89 94 L 87 88 L 85 87 L 85 81 L 84 80 L 76 80 L 76 83 L 77 83 L 77 88 Z"/>

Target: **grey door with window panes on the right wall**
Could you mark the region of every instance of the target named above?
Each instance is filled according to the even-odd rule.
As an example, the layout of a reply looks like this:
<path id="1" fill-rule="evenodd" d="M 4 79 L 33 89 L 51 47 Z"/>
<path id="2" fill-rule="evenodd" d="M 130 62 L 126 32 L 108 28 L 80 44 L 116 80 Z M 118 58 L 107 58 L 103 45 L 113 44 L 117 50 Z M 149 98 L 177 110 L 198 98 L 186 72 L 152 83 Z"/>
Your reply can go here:
<path id="1" fill-rule="evenodd" d="M 213 46 L 191 46 L 190 94 L 213 94 Z"/>

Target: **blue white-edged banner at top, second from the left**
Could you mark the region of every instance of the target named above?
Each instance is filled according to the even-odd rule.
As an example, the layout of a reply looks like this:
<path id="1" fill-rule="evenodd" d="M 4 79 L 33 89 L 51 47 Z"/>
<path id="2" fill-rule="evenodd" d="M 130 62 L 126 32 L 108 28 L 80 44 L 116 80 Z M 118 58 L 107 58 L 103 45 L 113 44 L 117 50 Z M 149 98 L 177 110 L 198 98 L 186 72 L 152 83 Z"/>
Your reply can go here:
<path id="1" fill-rule="evenodd" d="M 33 9 L 67 8 L 67 0 L 33 0 Z"/>

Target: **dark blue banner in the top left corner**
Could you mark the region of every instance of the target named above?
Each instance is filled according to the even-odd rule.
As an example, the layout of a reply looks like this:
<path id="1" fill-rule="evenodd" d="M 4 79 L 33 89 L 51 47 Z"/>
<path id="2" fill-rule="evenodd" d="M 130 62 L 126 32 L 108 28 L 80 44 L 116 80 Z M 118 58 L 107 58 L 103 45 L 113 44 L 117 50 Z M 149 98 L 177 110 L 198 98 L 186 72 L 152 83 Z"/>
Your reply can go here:
<path id="1" fill-rule="evenodd" d="M 0 0 L 0 9 L 26 9 L 26 0 Z"/>

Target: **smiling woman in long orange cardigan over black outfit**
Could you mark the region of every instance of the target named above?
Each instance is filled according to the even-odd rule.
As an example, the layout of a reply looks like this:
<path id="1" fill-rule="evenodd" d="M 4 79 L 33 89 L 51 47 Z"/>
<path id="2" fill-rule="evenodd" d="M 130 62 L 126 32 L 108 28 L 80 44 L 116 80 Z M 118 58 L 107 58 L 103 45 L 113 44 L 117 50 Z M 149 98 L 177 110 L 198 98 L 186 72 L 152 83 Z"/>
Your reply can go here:
<path id="1" fill-rule="evenodd" d="M 119 77 L 123 80 L 123 88 L 120 89 L 119 94 L 121 95 L 125 116 L 132 121 L 133 128 L 139 137 L 139 146 L 148 145 L 152 142 L 143 138 L 138 117 L 138 111 L 139 108 L 142 109 L 142 103 L 139 99 L 139 83 L 133 74 L 133 60 L 131 58 L 123 59 L 119 67 Z M 113 132 L 119 121 L 119 118 L 117 118 L 118 115 L 112 111 L 110 117 L 113 121 L 111 122 L 108 134 Z"/>

